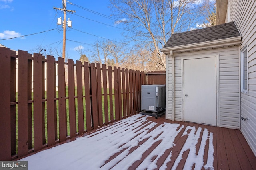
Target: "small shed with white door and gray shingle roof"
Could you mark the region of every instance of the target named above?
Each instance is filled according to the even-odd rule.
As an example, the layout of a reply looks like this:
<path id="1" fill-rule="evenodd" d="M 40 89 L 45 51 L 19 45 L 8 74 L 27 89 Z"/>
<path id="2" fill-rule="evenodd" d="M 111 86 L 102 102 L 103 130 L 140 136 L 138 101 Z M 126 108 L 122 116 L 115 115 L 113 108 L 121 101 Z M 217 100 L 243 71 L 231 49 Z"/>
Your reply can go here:
<path id="1" fill-rule="evenodd" d="M 166 119 L 240 129 L 240 44 L 234 22 L 170 37 Z"/>

